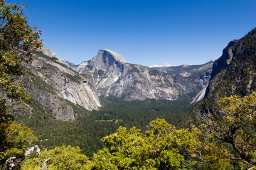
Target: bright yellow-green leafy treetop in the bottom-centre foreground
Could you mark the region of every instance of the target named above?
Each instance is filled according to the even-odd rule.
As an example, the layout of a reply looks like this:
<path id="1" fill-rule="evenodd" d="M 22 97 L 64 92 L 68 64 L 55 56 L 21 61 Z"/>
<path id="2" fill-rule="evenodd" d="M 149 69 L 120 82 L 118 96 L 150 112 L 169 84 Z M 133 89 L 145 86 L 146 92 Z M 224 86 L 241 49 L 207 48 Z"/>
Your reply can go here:
<path id="1" fill-rule="evenodd" d="M 163 119 L 152 121 L 146 135 L 135 127 L 119 127 L 102 142 L 107 148 L 94 154 L 92 169 L 179 169 L 182 154 L 195 145 L 191 132 L 176 130 Z"/>

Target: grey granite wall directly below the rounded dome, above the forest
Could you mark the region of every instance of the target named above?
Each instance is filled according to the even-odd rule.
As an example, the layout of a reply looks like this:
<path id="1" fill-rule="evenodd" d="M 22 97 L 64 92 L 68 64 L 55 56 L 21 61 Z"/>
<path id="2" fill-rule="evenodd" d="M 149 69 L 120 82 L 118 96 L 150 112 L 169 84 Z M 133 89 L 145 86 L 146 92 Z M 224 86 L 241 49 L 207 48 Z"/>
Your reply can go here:
<path id="1" fill-rule="evenodd" d="M 183 93 L 174 86 L 171 75 L 135 64 L 123 64 L 121 68 L 113 64 L 98 79 L 97 90 L 102 96 L 115 96 L 126 101 L 146 98 L 176 100 Z"/>

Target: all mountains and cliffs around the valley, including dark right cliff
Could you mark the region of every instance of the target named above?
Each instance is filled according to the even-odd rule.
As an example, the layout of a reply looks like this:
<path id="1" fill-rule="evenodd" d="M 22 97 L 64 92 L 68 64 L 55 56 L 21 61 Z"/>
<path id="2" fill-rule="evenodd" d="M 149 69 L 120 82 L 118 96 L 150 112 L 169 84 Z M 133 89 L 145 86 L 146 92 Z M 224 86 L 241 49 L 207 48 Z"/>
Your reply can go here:
<path id="1" fill-rule="evenodd" d="M 112 50 L 99 50 L 92 60 L 76 65 L 43 47 L 31 63 L 24 63 L 27 73 L 21 79 L 33 94 L 33 102 L 63 121 L 75 119 L 74 104 L 97 110 L 99 96 L 124 101 L 173 101 L 185 96 L 198 102 L 205 98 L 198 109 L 209 113 L 220 97 L 245 96 L 256 89 L 255 36 L 254 29 L 231 41 L 218 60 L 201 65 L 146 67 L 129 64 Z"/>

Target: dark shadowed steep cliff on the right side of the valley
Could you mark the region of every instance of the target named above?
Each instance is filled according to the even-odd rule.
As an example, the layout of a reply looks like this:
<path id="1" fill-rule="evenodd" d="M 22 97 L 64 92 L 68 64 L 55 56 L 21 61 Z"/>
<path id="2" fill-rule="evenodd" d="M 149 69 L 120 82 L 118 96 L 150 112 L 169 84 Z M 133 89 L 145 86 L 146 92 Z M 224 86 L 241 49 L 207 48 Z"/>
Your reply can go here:
<path id="1" fill-rule="evenodd" d="M 201 112 L 215 113 L 217 101 L 236 94 L 246 96 L 256 90 L 256 28 L 240 40 L 231 41 L 214 62 Z"/>

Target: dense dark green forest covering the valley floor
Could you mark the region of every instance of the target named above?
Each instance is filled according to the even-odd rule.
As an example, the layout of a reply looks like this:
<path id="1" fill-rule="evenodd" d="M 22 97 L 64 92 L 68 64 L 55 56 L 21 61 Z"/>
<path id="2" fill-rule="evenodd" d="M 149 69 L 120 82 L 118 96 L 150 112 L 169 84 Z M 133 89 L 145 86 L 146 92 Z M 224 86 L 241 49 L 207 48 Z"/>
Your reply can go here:
<path id="1" fill-rule="evenodd" d="M 145 132 L 151 120 L 164 118 L 172 125 L 180 125 L 181 120 L 192 111 L 194 105 L 188 98 L 178 101 L 122 101 L 118 98 L 101 98 L 99 111 L 87 111 L 69 102 L 75 108 L 75 121 L 56 120 L 53 114 L 46 114 L 44 108 L 31 100 L 28 104 L 33 108 L 33 115 L 16 115 L 18 123 L 25 123 L 34 131 L 38 141 L 34 144 L 44 148 L 71 145 L 79 146 L 82 153 L 92 156 L 102 149 L 102 137 L 115 132 L 119 126 L 133 126 Z M 48 112 L 50 113 L 50 111 Z"/>

